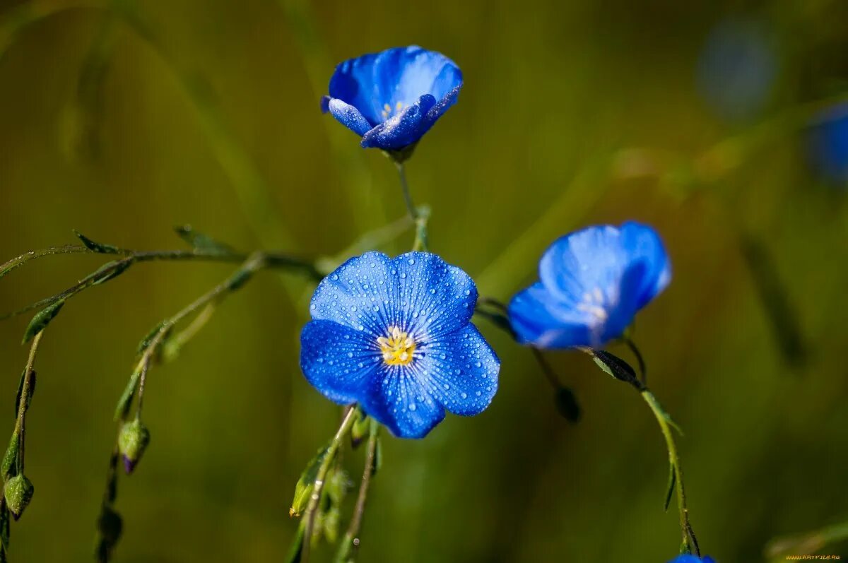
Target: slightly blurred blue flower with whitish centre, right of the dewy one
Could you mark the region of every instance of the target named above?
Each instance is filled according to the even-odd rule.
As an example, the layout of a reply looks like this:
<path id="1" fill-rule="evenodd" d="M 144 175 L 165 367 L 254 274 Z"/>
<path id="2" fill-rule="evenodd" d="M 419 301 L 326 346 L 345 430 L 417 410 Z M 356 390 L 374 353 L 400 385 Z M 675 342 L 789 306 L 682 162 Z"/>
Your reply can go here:
<path id="1" fill-rule="evenodd" d="M 550 245 L 539 281 L 510 301 L 519 342 L 536 348 L 599 348 L 671 281 L 662 241 L 650 226 L 590 226 Z"/>

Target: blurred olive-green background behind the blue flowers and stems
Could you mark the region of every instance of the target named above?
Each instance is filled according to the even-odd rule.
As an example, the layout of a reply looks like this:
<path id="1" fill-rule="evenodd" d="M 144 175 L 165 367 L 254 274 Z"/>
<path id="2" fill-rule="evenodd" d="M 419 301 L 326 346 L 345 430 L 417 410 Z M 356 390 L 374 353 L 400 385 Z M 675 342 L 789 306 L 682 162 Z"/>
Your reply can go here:
<path id="1" fill-rule="evenodd" d="M 819 102 L 848 92 L 846 8 L 3 0 L 0 256 L 75 242 L 72 228 L 179 248 L 171 228 L 183 223 L 237 248 L 343 252 L 404 207 L 388 160 L 321 115 L 333 65 L 396 45 L 436 49 L 466 83 L 407 166 L 416 201 L 432 206 L 432 249 L 506 300 L 567 231 L 656 226 L 675 277 L 639 315 L 636 340 L 685 431 L 692 522 L 720 562 L 762 561 L 775 536 L 848 519 L 848 206 L 807 165 L 804 125 Z M 709 46 L 722 47 L 727 22 L 756 56 L 719 50 L 727 64 L 716 70 Z M 730 90 L 739 72 L 743 94 L 756 79 L 753 101 Z M 399 253 L 411 238 L 382 249 Z M 765 263 L 745 259 L 740 242 L 751 239 Z M 0 281 L 0 309 L 56 293 L 102 261 L 26 265 Z M 136 344 L 231 270 L 138 265 L 72 299 L 50 326 L 27 425 L 36 496 L 13 526 L 14 561 L 90 558 L 114 402 Z M 758 287 L 775 279 L 803 362 L 782 354 L 762 306 Z M 298 368 L 312 288 L 258 276 L 151 372 L 153 438 L 120 482 L 116 561 L 282 560 L 297 526 L 294 482 L 338 424 Z M 0 324 L 9 432 L 28 320 Z M 667 454 L 646 405 L 583 354 L 551 354 L 583 406 L 569 425 L 527 349 L 477 322 L 502 360 L 499 394 L 426 440 L 384 438 L 360 560 L 671 559 Z M 346 458 L 354 482 L 361 456 Z"/>

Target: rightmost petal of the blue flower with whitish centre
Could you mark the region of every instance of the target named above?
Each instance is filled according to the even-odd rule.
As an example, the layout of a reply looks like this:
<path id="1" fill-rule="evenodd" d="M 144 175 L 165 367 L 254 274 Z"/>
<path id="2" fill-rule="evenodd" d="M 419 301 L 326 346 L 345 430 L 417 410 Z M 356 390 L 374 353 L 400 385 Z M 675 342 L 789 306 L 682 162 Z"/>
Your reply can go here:
<path id="1" fill-rule="evenodd" d="M 636 291 L 636 308 L 642 309 L 672 281 L 672 265 L 660 236 L 650 226 L 628 221 L 621 228 L 622 249 L 629 258 L 644 264 Z"/>

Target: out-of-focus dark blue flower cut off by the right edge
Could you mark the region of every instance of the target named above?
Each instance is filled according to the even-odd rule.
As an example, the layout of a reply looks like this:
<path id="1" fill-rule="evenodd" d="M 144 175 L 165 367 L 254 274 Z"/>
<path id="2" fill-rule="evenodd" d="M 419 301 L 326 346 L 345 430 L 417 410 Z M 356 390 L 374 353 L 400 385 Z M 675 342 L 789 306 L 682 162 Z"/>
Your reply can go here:
<path id="1" fill-rule="evenodd" d="M 828 181 L 848 186 L 848 103 L 818 114 L 807 134 L 810 163 Z"/>

